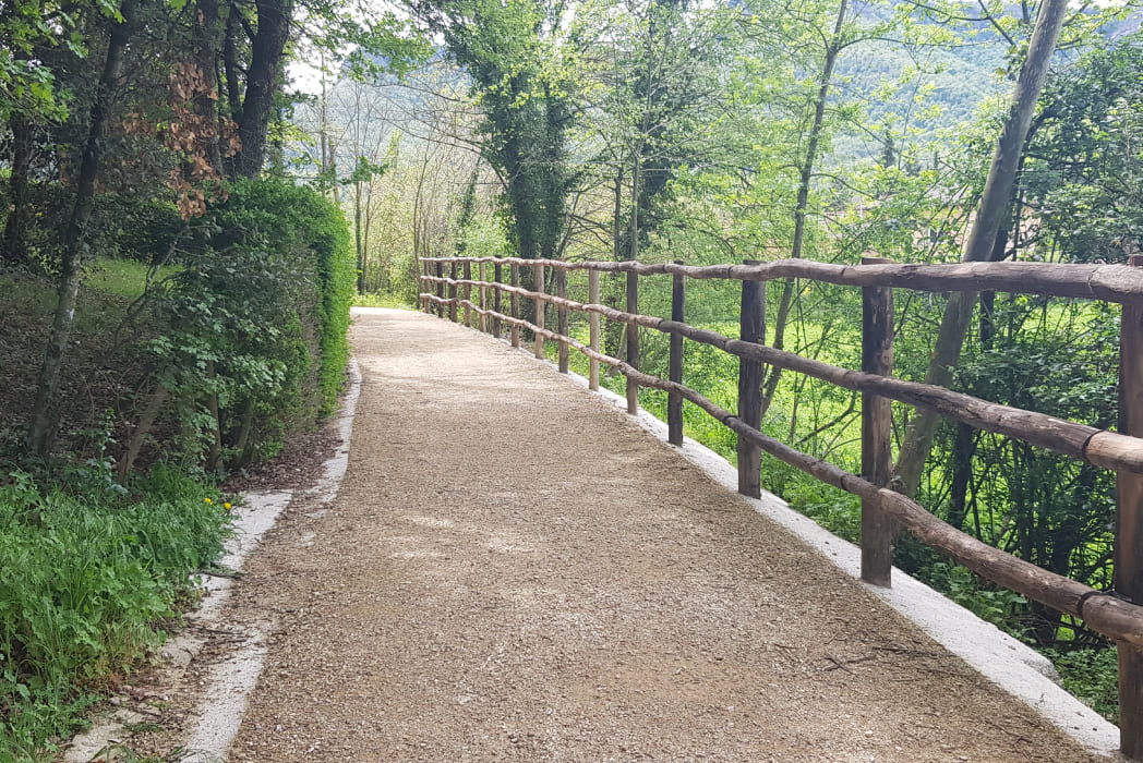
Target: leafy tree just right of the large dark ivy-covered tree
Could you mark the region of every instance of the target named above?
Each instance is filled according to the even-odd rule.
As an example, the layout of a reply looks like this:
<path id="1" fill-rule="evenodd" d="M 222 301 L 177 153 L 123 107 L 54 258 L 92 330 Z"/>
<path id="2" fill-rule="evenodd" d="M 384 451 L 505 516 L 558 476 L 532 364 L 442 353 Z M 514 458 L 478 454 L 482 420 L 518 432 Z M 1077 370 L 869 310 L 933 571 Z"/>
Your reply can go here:
<path id="1" fill-rule="evenodd" d="M 725 102 L 718 63 L 732 19 L 725 8 L 688 0 L 599 3 L 577 13 L 572 37 L 594 83 L 585 143 L 605 168 L 599 179 L 615 194 L 617 259 L 637 259 L 668 218 L 678 171 L 719 153 L 711 127 Z"/>

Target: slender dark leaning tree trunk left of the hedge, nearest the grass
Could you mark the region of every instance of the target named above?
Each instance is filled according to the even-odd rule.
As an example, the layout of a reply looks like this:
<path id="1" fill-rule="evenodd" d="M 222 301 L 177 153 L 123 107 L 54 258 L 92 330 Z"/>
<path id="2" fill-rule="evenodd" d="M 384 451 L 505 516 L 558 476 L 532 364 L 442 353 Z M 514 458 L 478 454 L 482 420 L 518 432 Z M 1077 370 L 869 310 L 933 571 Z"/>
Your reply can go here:
<path id="1" fill-rule="evenodd" d="M 122 21 L 111 29 L 107 54 L 99 75 L 98 91 L 91 106 L 87 140 L 80 160 L 79 179 L 75 184 L 75 202 L 64 228 L 62 242 L 62 268 L 56 288 L 56 312 L 51 334 L 40 366 L 35 403 L 32 407 L 32 423 L 27 431 L 29 450 L 43 456 L 51 448 L 56 434 L 55 401 L 59 386 L 59 368 L 67 350 L 67 339 L 75 323 L 75 302 L 79 296 L 80 274 L 83 270 L 83 239 L 91 218 L 95 200 L 95 180 L 103 163 L 103 135 L 111 118 L 111 105 L 119 87 L 123 69 L 123 53 L 135 29 L 137 0 L 123 0 L 120 14 Z"/>

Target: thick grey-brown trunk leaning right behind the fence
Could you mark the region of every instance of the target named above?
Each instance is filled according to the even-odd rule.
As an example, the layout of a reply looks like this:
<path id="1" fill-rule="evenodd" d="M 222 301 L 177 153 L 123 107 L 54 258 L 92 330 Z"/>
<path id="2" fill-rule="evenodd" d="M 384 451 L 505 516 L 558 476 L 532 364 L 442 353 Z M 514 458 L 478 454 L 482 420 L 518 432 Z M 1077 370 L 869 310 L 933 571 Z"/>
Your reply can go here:
<path id="1" fill-rule="evenodd" d="M 1036 30 L 1029 43 L 1028 59 L 1021 67 L 1008 118 L 1005 120 L 996 153 L 992 155 L 992 166 L 984 183 L 984 193 L 977 207 L 973 231 L 965 243 L 962 262 L 988 260 L 994 251 L 997 234 L 1001 230 L 1013 196 L 1028 128 L 1032 122 L 1036 103 L 1044 88 L 1048 64 L 1055 53 L 1060 30 L 1066 15 L 1066 0 L 1045 0 L 1040 7 Z M 1020 220 L 1015 224 L 1018 225 Z M 965 344 L 976 298 L 977 294 L 970 291 L 956 291 L 949 297 L 933 358 L 925 374 L 926 384 L 949 386 L 952 382 L 952 369 L 960 361 L 960 351 Z M 919 410 L 905 432 L 893 484 L 906 496 L 917 493 L 940 419 L 941 416 L 935 411 Z"/>

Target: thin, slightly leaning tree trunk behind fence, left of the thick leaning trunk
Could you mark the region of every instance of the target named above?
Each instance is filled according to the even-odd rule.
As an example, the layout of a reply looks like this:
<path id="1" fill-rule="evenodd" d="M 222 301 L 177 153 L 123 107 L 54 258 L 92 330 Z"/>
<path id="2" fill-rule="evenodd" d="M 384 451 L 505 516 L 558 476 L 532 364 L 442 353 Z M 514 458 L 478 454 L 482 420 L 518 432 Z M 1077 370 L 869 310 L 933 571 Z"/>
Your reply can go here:
<path id="1" fill-rule="evenodd" d="M 833 37 L 825 46 L 825 61 L 822 63 L 822 74 L 817 81 L 817 98 L 814 102 L 814 122 L 809 128 L 809 140 L 806 143 L 806 155 L 802 158 L 801 167 L 798 171 L 798 199 L 793 208 L 793 243 L 790 247 L 790 257 L 801 259 L 802 248 L 806 239 L 806 212 L 809 209 L 809 185 L 814 179 L 814 168 L 817 164 L 817 151 L 822 143 L 822 128 L 825 125 L 825 105 L 829 102 L 830 87 L 833 83 L 833 67 L 838 63 L 841 54 L 844 40 L 841 32 L 845 29 L 846 15 L 849 11 L 848 0 L 841 0 L 838 6 L 838 17 L 833 24 Z M 793 306 L 794 281 L 788 279 L 782 284 L 782 296 L 778 298 L 778 310 L 774 319 L 774 342 L 775 350 L 785 347 L 785 328 L 790 322 L 790 310 Z M 778 388 L 782 378 L 782 369 L 772 366 L 762 384 L 762 416 L 769 410 L 774 401 L 774 393 Z"/>

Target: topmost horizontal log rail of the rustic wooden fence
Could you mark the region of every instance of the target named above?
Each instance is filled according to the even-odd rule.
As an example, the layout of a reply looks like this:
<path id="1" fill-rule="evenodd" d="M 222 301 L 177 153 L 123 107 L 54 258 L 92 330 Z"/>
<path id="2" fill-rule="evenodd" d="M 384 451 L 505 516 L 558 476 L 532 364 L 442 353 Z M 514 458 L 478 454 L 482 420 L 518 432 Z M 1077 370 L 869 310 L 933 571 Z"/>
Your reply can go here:
<path id="1" fill-rule="evenodd" d="M 449 262 L 451 257 L 426 258 Z M 472 262 L 517 263 L 562 271 L 636 273 L 637 275 L 684 275 L 688 279 L 769 281 L 810 279 L 854 287 L 893 287 L 919 291 L 1006 291 L 1050 297 L 1101 299 L 1113 303 L 1143 302 L 1143 272 L 1129 265 L 1084 265 L 1048 263 L 956 263 L 951 265 L 838 265 L 808 259 L 778 259 L 758 265 L 679 265 L 633 262 L 563 262 L 518 257 L 475 257 Z"/>

